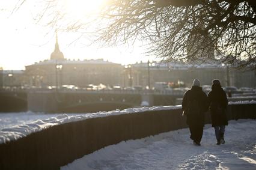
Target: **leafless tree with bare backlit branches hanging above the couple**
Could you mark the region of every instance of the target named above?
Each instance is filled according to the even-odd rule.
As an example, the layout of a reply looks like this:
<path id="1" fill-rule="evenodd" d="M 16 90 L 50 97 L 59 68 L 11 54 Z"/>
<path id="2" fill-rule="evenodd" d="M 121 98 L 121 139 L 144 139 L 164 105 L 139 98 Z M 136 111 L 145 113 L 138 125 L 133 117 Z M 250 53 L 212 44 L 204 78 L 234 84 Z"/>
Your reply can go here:
<path id="1" fill-rule="evenodd" d="M 55 13 L 50 24 L 63 18 Z M 97 25 L 92 37 L 104 45 L 142 40 L 150 55 L 165 61 L 214 60 L 256 69 L 255 0 L 106 0 L 90 24 Z M 85 22 L 65 26 L 88 30 Z"/>

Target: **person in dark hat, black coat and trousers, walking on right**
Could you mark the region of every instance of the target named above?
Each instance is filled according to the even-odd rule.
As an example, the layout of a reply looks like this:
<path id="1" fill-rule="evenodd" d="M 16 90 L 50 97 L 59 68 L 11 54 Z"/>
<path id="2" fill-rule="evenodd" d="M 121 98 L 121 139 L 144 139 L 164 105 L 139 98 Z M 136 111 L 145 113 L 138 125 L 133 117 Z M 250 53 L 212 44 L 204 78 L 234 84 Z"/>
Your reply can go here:
<path id="1" fill-rule="evenodd" d="M 209 92 L 207 99 L 210 105 L 212 126 L 215 129 L 217 145 L 225 144 L 225 126 L 228 125 L 225 110 L 227 109 L 228 99 L 225 91 L 221 87 L 221 82 L 219 82 L 219 80 L 213 80 L 212 91 Z"/>

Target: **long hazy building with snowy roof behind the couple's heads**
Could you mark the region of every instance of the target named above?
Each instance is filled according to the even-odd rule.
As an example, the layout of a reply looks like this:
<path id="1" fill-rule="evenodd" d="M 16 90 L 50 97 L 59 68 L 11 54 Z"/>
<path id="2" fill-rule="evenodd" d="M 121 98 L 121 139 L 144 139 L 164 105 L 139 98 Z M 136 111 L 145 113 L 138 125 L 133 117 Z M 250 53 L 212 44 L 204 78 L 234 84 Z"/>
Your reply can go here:
<path id="1" fill-rule="evenodd" d="M 227 74 L 228 71 L 228 74 Z M 130 73 L 132 76 L 130 76 Z M 192 85 L 193 79 L 198 78 L 201 85 L 212 85 L 213 79 L 219 79 L 222 86 L 234 85 L 236 87 L 256 87 L 256 72 L 234 70 L 221 64 L 174 64 L 140 62 L 124 68 L 122 85 L 129 86 L 130 77 L 132 85 L 154 87 L 154 82 L 184 82 L 187 87 Z"/>

